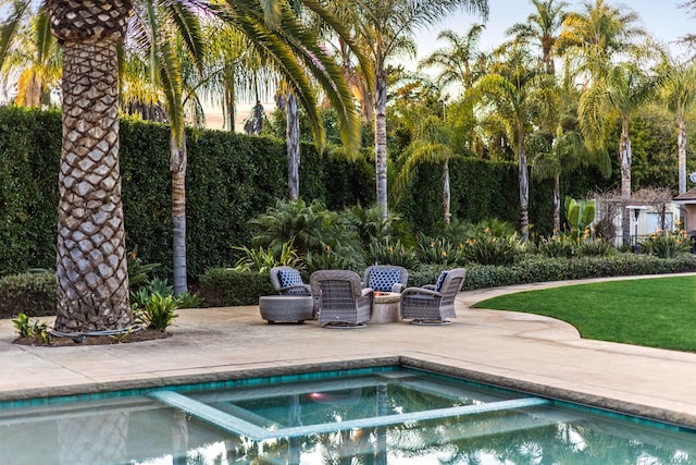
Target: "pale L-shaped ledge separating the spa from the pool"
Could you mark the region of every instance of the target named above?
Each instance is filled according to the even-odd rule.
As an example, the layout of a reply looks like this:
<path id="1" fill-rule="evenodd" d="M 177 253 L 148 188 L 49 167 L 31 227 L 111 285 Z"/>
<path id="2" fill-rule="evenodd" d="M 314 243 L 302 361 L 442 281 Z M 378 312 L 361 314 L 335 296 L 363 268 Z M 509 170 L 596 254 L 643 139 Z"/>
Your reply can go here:
<path id="1" fill-rule="evenodd" d="M 266 430 L 257 425 L 245 421 L 234 415 L 229 415 L 225 412 L 213 408 L 210 405 L 178 394 L 174 391 L 152 391 L 148 393 L 148 396 L 157 400 L 164 405 L 186 412 L 186 414 L 206 421 L 212 426 L 215 426 L 224 431 L 234 435 L 240 435 L 256 441 L 272 438 L 295 438 L 300 436 L 318 435 L 322 432 L 333 432 L 353 428 L 374 428 L 380 426 L 402 424 L 406 421 L 449 418 L 488 412 L 529 408 L 548 404 L 548 401 L 538 397 L 513 399 L 509 401 L 489 402 L 486 404 L 462 405 L 457 407 L 437 408 L 424 412 L 411 412 L 406 414 L 352 419 L 340 423 L 327 423 L 320 425 L 307 425 Z"/>

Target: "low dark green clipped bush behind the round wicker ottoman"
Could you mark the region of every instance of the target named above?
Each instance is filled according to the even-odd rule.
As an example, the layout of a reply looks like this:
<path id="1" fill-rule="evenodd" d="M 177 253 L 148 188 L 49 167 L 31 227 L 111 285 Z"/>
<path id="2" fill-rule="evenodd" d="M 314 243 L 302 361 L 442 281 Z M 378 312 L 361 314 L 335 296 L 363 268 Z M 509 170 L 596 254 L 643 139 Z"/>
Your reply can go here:
<path id="1" fill-rule="evenodd" d="M 212 268 L 200 279 L 200 296 L 210 307 L 257 305 L 259 296 L 276 294 L 269 274 Z"/>

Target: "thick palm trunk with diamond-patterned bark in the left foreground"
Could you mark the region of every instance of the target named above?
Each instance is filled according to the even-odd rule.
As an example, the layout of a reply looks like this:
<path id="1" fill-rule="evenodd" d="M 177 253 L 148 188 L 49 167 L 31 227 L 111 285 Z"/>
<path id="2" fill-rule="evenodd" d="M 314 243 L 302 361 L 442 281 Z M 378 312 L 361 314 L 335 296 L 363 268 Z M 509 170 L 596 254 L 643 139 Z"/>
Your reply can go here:
<path id="1" fill-rule="evenodd" d="M 132 0 L 49 0 L 63 51 L 59 332 L 133 325 L 119 170 L 119 70 Z"/>

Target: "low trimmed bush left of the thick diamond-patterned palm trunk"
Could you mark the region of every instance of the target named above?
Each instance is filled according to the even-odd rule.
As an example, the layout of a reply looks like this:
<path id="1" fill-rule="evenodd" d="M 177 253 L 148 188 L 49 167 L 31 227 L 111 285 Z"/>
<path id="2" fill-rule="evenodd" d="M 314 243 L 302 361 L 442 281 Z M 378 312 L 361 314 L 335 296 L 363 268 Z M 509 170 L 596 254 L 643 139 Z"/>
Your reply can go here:
<path id="1" fill-rule="evenodd" d="M 0 318 L 55 315 L 58 297 L 52 272 L 21 273 L 0 278 Z"/>

